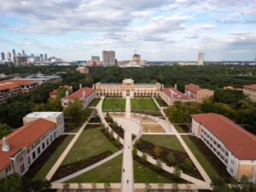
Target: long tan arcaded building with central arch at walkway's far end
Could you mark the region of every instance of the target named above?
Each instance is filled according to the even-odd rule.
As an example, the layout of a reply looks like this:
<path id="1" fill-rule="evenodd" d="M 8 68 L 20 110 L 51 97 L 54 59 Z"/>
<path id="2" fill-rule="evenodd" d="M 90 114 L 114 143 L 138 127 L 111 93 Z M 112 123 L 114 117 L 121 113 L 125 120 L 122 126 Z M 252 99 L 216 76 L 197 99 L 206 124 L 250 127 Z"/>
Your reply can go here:
<path id="1" fill-rule="evenodd" d="M 124 79 L 122 84 L 95 85 L 97 96 L 160 96 L 161 84 L 135 84 L 133 79 Z"/>

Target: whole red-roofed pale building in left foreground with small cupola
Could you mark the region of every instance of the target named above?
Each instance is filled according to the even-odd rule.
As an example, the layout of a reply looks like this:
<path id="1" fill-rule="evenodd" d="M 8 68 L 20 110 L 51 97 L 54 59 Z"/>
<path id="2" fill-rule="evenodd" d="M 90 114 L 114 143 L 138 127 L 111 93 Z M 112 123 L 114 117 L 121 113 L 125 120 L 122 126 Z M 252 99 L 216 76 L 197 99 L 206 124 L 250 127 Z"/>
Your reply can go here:
<path id="1" fill-rule="evenodd" d="M 63 113 L 57 115 L 58 120 L 40 116 L 42 114 L 37 113 L 32 119 L 26 117 L 23 126 L 0 140 L 0 177 L 13 173 L 24 175 L 40 154 L 64 131 Z"/>

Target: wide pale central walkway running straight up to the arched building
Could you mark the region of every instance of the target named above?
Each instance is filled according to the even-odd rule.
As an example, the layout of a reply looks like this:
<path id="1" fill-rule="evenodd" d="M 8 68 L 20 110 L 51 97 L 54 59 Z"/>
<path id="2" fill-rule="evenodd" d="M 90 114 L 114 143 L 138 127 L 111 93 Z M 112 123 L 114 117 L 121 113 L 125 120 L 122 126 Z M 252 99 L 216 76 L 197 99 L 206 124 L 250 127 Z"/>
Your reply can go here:
<path id="1" fill-rule="evenodd" d="M 125 121 L 131 119 L 131 103 L 130 96 L 126 96 L 126 108 L 125 108 Z M 128 126 L 127 126 L 128 125 Z M 122 163 L 122 181 L 121 189 L 122 192 L 132 192 L 134 190 L 134 177 L 133 177 L 133 157 L 132 157 L 132 127 L 129 122 L 122 126 L 125 130 L 124 140 L 124 153 Z"/>

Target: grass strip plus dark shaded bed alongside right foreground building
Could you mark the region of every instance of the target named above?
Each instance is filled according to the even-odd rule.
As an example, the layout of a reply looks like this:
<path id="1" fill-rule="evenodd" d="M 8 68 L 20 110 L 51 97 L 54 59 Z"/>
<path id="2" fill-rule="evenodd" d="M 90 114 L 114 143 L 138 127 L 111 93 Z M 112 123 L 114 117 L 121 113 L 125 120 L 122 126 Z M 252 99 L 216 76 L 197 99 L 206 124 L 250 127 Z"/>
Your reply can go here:
<path id="1" fill-rule="evenodd" d="M 224 164 L 207 148 L 205 143 L 196 137 L 182 137 L 209 177 L 224 177 L 227 182 L 230 182 L 230 175 L 226 172 Z"/>

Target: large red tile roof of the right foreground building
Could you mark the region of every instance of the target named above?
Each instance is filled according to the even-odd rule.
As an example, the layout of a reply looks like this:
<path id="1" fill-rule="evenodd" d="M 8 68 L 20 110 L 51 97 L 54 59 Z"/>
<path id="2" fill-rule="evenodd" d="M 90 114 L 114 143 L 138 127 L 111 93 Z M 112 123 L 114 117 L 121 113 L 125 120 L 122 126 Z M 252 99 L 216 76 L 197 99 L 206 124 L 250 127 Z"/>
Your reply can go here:
<path id="1" fill-rule="evenodd" d="M 240 160 L 256 160 L 256 137 L 217 113 L 192 114 Z"/>

